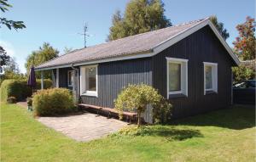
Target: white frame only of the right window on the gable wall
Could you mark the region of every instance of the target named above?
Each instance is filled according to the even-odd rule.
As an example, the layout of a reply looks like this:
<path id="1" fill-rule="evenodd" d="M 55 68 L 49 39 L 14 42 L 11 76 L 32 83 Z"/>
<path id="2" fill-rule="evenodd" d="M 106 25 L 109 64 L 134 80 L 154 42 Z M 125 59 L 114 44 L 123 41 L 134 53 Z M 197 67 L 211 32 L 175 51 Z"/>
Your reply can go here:
<path id="1" fill-rule="evenodd" d="M 217 63 L 209 63 L 203 62 L 204 64 L 204 95 L 207 92 L 218 92 L 218 64 Z M 212 67 L 212 88 L 207 89 L 207 82 L 206 82 L 206 66 Z"/>

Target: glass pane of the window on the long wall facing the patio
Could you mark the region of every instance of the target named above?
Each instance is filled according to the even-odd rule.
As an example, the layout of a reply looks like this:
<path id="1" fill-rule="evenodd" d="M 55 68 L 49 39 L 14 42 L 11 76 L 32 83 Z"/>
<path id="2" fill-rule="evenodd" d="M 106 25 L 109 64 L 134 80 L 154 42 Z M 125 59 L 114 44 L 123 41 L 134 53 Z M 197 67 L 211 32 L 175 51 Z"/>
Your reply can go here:
<path id="1" fill-rule="evenodd" d="M 96 91 L 96 68 L 86 68 L 85 69 L 86 74 L 86 91 Z"/>

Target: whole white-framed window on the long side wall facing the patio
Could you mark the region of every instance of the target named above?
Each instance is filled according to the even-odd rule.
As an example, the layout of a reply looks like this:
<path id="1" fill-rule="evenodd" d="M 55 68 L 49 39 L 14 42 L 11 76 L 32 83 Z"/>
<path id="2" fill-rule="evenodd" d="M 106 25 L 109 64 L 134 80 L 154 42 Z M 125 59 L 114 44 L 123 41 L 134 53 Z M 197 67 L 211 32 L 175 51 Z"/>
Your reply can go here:
<path id="1" fill-rule="evenodd" d="M 97 97 L 97 66 L 83 66 L 80 69 L 81 95 Z"/>

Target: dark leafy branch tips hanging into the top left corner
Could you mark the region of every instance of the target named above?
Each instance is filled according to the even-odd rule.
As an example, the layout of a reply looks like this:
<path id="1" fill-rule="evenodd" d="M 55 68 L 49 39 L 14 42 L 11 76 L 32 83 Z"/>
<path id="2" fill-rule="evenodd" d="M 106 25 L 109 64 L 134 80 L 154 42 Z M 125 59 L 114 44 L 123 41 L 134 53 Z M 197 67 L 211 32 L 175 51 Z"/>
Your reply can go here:
<path id="1" fill-rule="evenodd" d="M 9 11 L 9 8 L 12 8 L 12 5 L 8 3 L 8 0 L 0 0 L 0 9 L 3 13 L 5 13 L 5 11 Z M 6 25 L 9 30 L 12 28 L 15 30 L 26 28 L 23 21 L 7 20 L 6 18 L 0 17 L 0 28 L 2 25 Z"/>

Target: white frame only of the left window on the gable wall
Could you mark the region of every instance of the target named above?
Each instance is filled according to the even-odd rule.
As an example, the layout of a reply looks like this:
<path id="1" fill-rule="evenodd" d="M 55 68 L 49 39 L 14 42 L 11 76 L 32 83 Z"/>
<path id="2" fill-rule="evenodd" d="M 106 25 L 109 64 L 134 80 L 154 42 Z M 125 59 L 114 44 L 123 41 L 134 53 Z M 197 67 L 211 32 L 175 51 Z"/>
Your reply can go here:
<path id="1" fill-rule="evenodd" d="M 188 61 L 189 59 L 177 59 L 177 58 L 168 58 L 166 57 L 166 68 L 167 68 L 167 98 L 172 94 L 183 94 L 188 96 Z M 169 63 L 181 64 L 181 78 L 180 86 L 181 91 L 169 91 Z"/>

